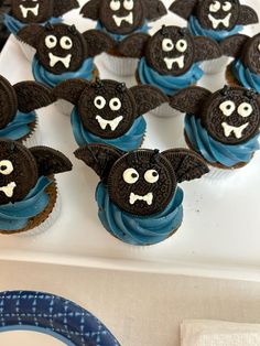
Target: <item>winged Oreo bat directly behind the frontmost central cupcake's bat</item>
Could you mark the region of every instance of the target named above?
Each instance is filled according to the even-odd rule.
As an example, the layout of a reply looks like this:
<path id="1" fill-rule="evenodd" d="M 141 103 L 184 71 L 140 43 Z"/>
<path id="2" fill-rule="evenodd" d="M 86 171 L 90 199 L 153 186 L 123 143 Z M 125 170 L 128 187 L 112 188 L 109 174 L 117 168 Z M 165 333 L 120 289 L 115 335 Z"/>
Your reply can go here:
<path id="1" fill-rule="evenodd" d="M 109 79 L 95 83 L 68 79 L 53 93 L 77 105 L 84 128 L 105 139 L 123 136 L 139 116 L 167 101 L 155 87 L 143 85 L 128 89 L 124 83 Z"/>

